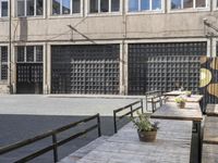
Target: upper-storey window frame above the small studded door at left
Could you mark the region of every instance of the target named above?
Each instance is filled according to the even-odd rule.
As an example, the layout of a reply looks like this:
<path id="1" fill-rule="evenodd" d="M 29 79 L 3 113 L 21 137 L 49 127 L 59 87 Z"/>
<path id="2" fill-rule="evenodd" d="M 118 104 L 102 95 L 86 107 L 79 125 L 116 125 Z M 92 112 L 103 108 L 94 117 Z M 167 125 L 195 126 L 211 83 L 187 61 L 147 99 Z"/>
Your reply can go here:
<path id="1" fill-rule="evenodd" d="M 19 0 L 15 0 L 16 10 L 14 10 L 16 17 L 44 17 L 45 8 L 46 8 L 45 0 L 43 0 L 43 14 L 41 15 L 37 15 L 37 3 L 36 3 L 37 0 L 34 0 L 34 15 L 27 15 L 27 1 L 28 0 L 23 0 L 24 1 L 24 15 L 21 15 L 21 16 L 19 16 L 19 14 L 17 14 L 17 1 Z"/>

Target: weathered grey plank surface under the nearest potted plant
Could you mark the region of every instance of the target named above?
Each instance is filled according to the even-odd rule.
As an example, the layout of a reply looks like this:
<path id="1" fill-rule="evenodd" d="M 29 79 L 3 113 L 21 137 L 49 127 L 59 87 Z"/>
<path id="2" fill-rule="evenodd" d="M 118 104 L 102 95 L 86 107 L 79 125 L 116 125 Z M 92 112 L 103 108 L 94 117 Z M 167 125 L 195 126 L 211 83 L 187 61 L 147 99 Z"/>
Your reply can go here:
<path id="1" fill-rule="evenodd" d="M 157 121 L 160 128 L 155 142 L 140 141 L 136 129 L 129 123 L 77 163 L 189 163 L 192 123 Z"/>

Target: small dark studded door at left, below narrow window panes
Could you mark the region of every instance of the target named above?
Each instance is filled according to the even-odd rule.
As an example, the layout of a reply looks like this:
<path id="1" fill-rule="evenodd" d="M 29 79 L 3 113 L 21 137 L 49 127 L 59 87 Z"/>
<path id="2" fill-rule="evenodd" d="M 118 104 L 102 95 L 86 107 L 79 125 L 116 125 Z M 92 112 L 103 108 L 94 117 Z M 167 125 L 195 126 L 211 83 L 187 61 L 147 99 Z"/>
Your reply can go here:
<path id="1" fill-rule="evenodd" d="M 43 92 L 43 63 L 16 64 L 16 92 Z"/>

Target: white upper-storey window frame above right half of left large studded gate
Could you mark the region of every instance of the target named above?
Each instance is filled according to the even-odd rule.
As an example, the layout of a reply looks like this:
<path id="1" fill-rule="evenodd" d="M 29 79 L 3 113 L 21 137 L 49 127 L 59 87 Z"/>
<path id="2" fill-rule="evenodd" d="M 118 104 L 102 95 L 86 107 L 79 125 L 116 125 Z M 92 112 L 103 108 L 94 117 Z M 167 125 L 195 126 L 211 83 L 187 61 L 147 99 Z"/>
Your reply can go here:
<path id="1" fill-rule="evenodd" d="M 101 0 L 98 0 L 98 12 L 90 12 L 90 0 L 87 0 L 87 5 L 86 5 L 86 15 L 120 15 L 122 13 L 122 0 L 120 0 L 120 8 L 119 8 L 119 11 L 111 11 L 112 9 L 112 5 L 111 5 L 111 1 L 112 0 L 109 0 L 109 9 L 108 9 L 108 12 L 101 12 L 100 11 L 100 1 Z"/>

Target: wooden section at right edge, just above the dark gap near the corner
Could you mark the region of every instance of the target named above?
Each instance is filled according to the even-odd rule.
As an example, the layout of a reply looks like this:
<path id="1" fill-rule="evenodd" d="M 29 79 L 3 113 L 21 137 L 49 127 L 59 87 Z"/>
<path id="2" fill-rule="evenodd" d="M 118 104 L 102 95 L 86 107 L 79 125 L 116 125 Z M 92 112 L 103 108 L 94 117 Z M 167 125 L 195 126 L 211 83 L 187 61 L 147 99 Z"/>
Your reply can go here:
<path id="1" fill-rule="evenodd" d="M 218 145 L 218 117 L 206 116 L 203 142 Z"/>

